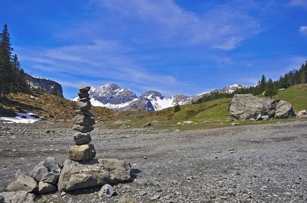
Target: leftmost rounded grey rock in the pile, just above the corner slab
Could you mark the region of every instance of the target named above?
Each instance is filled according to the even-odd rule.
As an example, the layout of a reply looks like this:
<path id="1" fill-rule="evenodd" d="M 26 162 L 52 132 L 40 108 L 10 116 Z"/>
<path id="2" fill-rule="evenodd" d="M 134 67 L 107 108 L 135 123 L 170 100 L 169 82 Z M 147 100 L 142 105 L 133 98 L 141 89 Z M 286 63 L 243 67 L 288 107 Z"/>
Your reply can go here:
<path id="1" fill-rule="evenodd" d="M 36 181 L 25 174 L 20 174 L 15 181 L 8 185 L 8 191 L 26 191 L 33 192 L 36 190 Z"/>

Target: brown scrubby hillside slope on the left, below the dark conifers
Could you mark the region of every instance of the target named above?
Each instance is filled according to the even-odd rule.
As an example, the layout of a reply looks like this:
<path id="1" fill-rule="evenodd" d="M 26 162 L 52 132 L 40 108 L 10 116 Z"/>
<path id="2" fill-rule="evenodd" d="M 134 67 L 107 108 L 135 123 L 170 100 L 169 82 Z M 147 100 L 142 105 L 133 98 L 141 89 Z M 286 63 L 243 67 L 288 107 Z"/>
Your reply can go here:
<path id="1" fill-rule="evenodd" d="M 52 94 L 29 91 L 28 93 L 10 93 L 0 102 L 0 116 L 14 117 L 14 112 L 34 113 L 47 119 L 72 119 L 77 110 L 76 102 Z M 114 111 L 104 107 L 92 107 L 96 120 L 109 121 Z"/>

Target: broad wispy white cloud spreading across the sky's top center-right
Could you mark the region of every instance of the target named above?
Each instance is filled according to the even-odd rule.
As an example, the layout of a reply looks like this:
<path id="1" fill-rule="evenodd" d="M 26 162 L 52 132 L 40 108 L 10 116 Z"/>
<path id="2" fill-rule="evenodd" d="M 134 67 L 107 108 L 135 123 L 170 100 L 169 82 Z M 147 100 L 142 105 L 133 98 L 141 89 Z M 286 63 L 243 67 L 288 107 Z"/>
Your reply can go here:
<path id="1" fill-rule="evenodd" d="M 155 24 L 160 40 L 178 44 L 205 44 L 231 50 L 243 40 L 262 31 L 259 19 L 248 15 L 258 8 L 253 1 L 234 1 L 196 14 L 180 8 L 174 1 L 117 0 L 98 1 L 108 9 L 118 11 L 118 17 Z M 155 32 L 155 31 L 154 31 Z M 173 43 L 176 41 L 177 43 Z M 168 43 L 169 45 L 169 43 Z"/>

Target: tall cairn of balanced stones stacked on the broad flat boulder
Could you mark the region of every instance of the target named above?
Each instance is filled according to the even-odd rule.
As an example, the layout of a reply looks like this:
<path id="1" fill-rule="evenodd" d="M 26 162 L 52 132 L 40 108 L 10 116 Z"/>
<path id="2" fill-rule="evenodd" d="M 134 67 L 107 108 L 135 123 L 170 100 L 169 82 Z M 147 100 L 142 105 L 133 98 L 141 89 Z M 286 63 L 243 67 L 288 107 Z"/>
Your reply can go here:
<path id="1" fill-rule="evenodd" d="M 95 120 L 91 117 L 93 114 L 89 111 L 91 109 L 90 102 L 90 86 L 82 85 L 78 91 L 78 101 L 77 105 L 80 110 L 76 110 L 77 114 L 74 118 L 74 123 L 79 125 L 74 125 L 73 130 L 78 131 L 74 134 L 74 140 L 76 145 L 71 147 L 68 152 L 68 158 L 74 161 L 85 161 L 92 160 L 96 156 L 96 150 L 89 132 L 94 130 L 93 125 Z"/>

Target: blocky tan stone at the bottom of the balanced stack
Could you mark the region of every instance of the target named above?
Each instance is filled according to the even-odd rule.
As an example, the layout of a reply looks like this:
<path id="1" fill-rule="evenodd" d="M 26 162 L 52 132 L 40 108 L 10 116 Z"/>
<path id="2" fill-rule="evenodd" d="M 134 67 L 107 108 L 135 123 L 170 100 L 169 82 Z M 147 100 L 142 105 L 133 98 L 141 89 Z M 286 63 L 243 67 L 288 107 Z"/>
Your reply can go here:
<path id="1" fill-rule="evenodd" d="M 75 145 L 68 151 L 68 158 L 75 161 L 91 160 L 95 156 L 96 150 L 93 144 Z"/>

